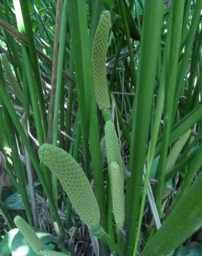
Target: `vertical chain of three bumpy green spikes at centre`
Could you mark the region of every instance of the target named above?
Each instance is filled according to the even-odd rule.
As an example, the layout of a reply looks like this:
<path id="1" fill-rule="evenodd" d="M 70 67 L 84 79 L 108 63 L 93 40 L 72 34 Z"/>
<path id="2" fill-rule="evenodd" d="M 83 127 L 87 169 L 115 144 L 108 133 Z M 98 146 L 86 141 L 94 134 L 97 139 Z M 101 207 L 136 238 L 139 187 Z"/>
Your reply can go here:
<path id="1" fill-rule="evenodd" d="M 111 198 L 113 216 L 117 230 L 120 230 L 125 221 L 124 174 L 122 170 L 122 157 L 118 136 L 110 112 L 109 93 L 106 77 L 106 55 L 111 17 L 109 11 L 102 12 L 98 28 L 95 33 L 92 51 L 93 82 L 95 86 L 95 99 L 102 111 L 104 120 L 105 143 L 107 150 L 107 163 L 111 183 Z"/>

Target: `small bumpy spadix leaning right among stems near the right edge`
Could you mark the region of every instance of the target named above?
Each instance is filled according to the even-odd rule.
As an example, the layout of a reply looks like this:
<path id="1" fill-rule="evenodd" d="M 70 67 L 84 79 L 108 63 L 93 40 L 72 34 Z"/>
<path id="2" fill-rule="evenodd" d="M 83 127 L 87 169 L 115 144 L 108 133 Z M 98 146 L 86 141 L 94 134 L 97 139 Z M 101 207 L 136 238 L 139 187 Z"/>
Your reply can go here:
<path id="1" fill-rule="evenodd" d="M 167 157 L 167 163 L 166 163 L 166 172 L 169 172 L 174 167 L 176 160 L 181 153 L 185 143 L 187 142 L 187 139 L 190 137 L 191 130 L 188 131 L 179 138 L 174 146 L 172 147 L 171 151 L 169 152 L 169 156 Z"/>

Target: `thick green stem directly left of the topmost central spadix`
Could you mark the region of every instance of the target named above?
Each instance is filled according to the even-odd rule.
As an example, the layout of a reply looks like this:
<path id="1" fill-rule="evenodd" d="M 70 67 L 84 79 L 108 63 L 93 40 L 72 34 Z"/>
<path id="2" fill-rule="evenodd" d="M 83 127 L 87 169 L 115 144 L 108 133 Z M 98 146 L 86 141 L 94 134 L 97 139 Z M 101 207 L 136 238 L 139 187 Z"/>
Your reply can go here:
<path id="1" fill-rule="evenodd" d="M 89 35 L 82 0 L 68 1 L 71 27 L 72 51 L 77 80 L 77 96 L 80 111 L 82 149 L 86 167 L 89 166 L 89 146 L 95 182 L 95 196 L 100 208 L 100 224 L 107 230 L 107 211 L 104 193 L 104 177 L 100 152 L 100 131 L 98 113 L 95 104 L 91 55 L 89 51 Z M 79 39 L 79 40 L 78 40 Z M 86 123 L 88 120 L 88 123 Z M 89 138 L 89 141 L 88 141 Z M 87 173 L 89 176 L 89 172 Z"/>

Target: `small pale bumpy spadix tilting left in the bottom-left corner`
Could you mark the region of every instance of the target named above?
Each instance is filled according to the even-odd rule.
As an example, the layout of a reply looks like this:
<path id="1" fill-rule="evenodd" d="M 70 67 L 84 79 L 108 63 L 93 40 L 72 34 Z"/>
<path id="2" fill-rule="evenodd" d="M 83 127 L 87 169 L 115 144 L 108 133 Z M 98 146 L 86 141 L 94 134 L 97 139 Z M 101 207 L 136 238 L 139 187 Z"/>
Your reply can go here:
<path id="1" fill-rule="evenodd" d="M 37 234 L 35 233 L 33 228 L 31 228 L 29 224 L 20 216 L 16 216 L 14 222 L 17 228 L 19 228 L 21 234 L 24 236 L 24 238 L 30 245 L 30 247 L 38 255 L 39 251 L 43 249 L 43 244 L 39 237 L 37 237 Z"/>

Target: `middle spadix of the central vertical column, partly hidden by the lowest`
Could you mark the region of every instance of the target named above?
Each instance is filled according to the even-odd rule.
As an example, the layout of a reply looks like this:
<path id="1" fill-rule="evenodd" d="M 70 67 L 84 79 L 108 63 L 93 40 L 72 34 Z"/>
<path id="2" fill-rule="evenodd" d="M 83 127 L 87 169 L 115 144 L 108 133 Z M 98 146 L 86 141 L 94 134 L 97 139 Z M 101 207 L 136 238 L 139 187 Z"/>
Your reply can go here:
<path id="1" fill-rule="evenodd" d="M 120 154 L 120 145 L 118 143 L 118 137 L 113 122 L 107 121 L 104 128 L 105 132 L 105 144 L 107 150 L 107 162 L 110 167 L 112 162 L 116 162 L 120 167 L 120 173 L 122 180 L 124 179 L 122 170 L 122 158 Z"/>

